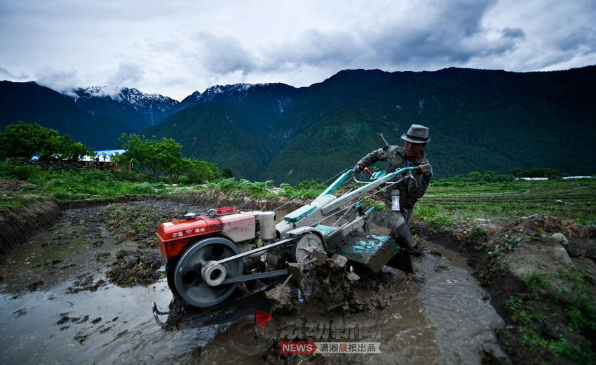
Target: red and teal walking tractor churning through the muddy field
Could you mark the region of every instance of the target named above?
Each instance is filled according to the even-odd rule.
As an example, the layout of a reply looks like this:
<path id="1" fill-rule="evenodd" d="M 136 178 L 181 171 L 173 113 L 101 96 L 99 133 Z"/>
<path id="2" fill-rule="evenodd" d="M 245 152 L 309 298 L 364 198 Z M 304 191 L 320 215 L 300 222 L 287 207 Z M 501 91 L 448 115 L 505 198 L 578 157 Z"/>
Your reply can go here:
<path id="1" fill-rule="evenodd" d="M 373 272 L 384 265 L 411 271 L 409 256 L 403 260 L 405 252 L 393 237 L 369 232 L 373 208 L 364 211 L 358 201 L 381 185 L 393 184 L 391 180 L 400 174 L 412 177 L 416 168 L 381 171 L 371 174 L 372 180 L 366 183 L 356 180 L 355 169 L 348 170 L 310 204 L 285 215 L 277 224 L 273 211 L 243 212 L 234 207 L 210 209 L 199 216 L 187 213 L 182 220 L 162 223 L 156 234 L 159 249 L 168 260 L 168 285 L 189 305 L 211 307 L 231 296 L 241 282 L 287 275 L 287 262 L 307 266 L 315 250 L 343 255 Z M 364 185 L 341 197 L 334 196 L 332 193 L 351 177 Z M 358 214 L 347 223 L 340 227 L 320 224 L 351 204 Z M 163 312 L 154 305 L 156 313 Z"/>

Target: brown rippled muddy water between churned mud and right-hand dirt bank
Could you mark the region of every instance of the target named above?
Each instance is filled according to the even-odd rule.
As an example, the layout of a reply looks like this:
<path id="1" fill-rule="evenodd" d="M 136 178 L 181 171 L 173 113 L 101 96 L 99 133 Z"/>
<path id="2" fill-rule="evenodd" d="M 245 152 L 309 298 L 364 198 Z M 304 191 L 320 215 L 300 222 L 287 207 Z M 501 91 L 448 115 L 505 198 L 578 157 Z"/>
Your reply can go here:
<path id="1" fill-rule="evenodd" d="M 379 362 L 480 364 L 480 350 L 505 357 L 493 332 L 503 320 L 466 263 L 441 246 L 424 246 L 432 253 L 416 260 L 412 280 L 395 287 Z"/>

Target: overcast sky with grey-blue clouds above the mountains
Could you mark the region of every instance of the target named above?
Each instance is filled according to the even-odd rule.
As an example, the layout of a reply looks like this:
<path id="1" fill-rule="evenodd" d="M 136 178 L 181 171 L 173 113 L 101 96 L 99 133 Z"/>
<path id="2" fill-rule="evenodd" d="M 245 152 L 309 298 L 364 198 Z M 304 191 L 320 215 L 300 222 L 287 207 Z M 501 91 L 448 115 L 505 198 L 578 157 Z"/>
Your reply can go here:
<path id="1" fill-rule="evenodd" d="M 0 80 L 309 86 L 342 69 L 596 65 L 595 0 L 0 0 Z"/>

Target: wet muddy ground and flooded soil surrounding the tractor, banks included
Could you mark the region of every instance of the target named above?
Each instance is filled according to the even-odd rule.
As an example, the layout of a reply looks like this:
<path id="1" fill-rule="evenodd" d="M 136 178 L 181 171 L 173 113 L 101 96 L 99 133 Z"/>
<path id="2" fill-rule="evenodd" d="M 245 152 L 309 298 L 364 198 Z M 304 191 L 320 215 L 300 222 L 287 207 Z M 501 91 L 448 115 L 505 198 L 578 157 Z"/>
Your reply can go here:
<path id="1" fill-rule="evenodd" d="M 42 225 L 40 234 L 22 233 L 32 238 L 7 248 L 0 260 L 0 302 L 5 308 L 0 318 L 5 344 L 2 362 L 346 362 L 344 354 L 324 358 L 279 354 L 278 343 L 284 338 L 276 338 L 266 352 L 248 356 L 230 345 L 229 324 L 169 331 L 155 324 L 150 312 L 154 300 L 158 307 L 173 311 L 170 328 L 205 313 L 172 297 L 165 283 L 165 261 L 154 238 L 156 227 L 189 211 L 205 213 L 218 201 L 243 210 L 280 205 L 226 200 L 217 194 L 180 194 L 168 199 L 94 202 L 64 211 L 50 205 L 40 211 L 33 208 L 34 217 L 46 214 L 47 229 Z M 374 217 L 381 227 L 383 220 L 382 214 Z M 415 221 L 413 230 L 422 252 L 412 260 L 414 274 L 389 267 L 372 274 L 325 258 L 302 277 L 298 267 L 285 286 L 285 277 L 266 283 L 271 285 L 251 300 L 269 297 L 273 307 L 268 312 L 279 326 L 288 316 L 305 323 L 308 317 L 381 318 L 382 353 L 349 357 L 355 364 L 570 361 L 569 354 L 543 350 L 528 340 L 528 333 L 547 340 L 565 338 L 581 345 L 578 348 L 588 355 L 589 349 L 594 352 L 593 343 L 586 343 L 596 335 L 590 323 L 570 326 L 569 303 L 546 286 L 531 285 L 543 277 L 559 293 L 592 293 L 593 303 L 593 228 L 536 215 L 464 221 L 440 231 Z M 569 276 L 576 279 L 564 279 Z M 235 295 L 241 296 L 242 290 Z M 230 308 L 238 309 L 222 308 L 222 313 Z M 530 312 L 535 318 L 547 316 L 548 321 L 527 321 Z M 581 354 L 571 358 L 575 359 L 571 362 L 590 363 Z"/>

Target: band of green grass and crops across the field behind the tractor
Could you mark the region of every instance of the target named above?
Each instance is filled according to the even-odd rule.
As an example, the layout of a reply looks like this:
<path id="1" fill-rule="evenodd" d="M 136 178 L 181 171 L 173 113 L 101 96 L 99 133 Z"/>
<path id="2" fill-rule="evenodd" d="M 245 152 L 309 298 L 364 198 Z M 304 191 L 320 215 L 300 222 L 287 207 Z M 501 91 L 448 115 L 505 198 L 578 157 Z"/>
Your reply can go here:
<path id="1" fill-rule="evenodd" d="M 205 192 L 209 189 L 227 192 L 233 197 L 312 199 L 326 187 L 321 180 L 302 181 L 294 186 L 280 184 L 276 187 L 272 181 L 253 183 L 245 179 L 219 178 L 219 175 L 214 178 L 217 172 L 215 165 L 194 159 L 182 159 L 181 163 L 184 161 L 195 166 L 191 168 L 189 176 L 197 176 L 180 176 L 178 186 L 168 184 L 171 181 L 169 175 L 153 178 L 142 171 L 131 172 L 126 167 L 107 171 L 90 168 L 46 171 L 20 161 L 0 162 L 0 177 L 35 184 L 36 187 L 27 190 L 28 193 L 45 194 L 60 202 L 106 199 L 124 194 L 158 195 L 178 190 Z M 477 176 L 481 176 L 484 181 L 487 175 L 490 174 L 478 173 Z M 450 225 L 454 220 L 510 219 L 535 213 L 596 225 L 596 179 L 527 181 L 509 178 L 496 183 L 479 183 L 478 180 L 466 179 L 470 179 L 470 174 L 466 178 L 431 183 L 424 197 L 416 204 L 414 217 L 425 220 L 437 229 Z M 502 180 L 501 177 L 497 179 Z M 203 184 L 189 185 L 197 180 Z M 351 186 L 354 185 L 342 187 L 339 194 L 346 192 Z M 18 194 L 0 196 L 0 209 L 18 209 L 30 199 Z M 365 199 L 364 204 L 384 210 L 382 193 Z"/>

